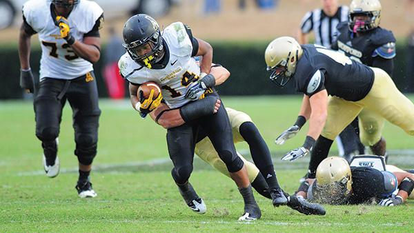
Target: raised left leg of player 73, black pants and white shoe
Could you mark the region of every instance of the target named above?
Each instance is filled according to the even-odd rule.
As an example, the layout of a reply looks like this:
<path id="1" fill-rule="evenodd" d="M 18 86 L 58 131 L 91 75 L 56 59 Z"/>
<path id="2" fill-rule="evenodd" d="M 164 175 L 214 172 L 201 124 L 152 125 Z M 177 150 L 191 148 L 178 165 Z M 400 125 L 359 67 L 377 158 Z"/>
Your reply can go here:
<path id="1" fill-rule="evenodd" d="M 43 148 L 43 168 L 46 175 L 51 178 L 59 174 L 57 136 L 59 136 L 59 124 L 66 101 L 59 96 L 63 87 L 64 81 L 43 79 L 39 83 L 39 92 L 34 99 L 36 136 Z"/>

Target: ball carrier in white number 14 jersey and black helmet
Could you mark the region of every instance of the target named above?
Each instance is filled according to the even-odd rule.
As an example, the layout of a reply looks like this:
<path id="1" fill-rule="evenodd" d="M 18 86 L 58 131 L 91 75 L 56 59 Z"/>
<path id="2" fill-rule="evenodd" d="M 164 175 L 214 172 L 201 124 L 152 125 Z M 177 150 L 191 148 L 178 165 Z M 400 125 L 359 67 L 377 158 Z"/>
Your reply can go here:
<path id="1" fill-rule="evenodd" d="M 215 114 L 204 117 L 197 116 L 198 112 L 191 107 L 201 105 L 198 99 L 204 92 L 219 99 L 214 86 L 224 80 L 209 74 L 213 48 L 206 41 L 193 37 L 190 28 L 181 22 L 172 23 L 161 33 L 157 21 L 146 14 L 137 14 L 128 19 L 123 36 L 127 52 L 119 60 L 119 69 L 130 83 L 130 100 L 135 110 L 145 117 L 164 98 L 169 108 L 187 106 L 181 108 L 181 113 L 186 116 L 183 118 L 193 119 L 187 121 L 190 123 L 167 130 L 168 153 L 174 164 L 171 174 L 186 203 L 190 203 L 200 213 L 206 211 L 204 201 L 188 182 L 193 172 L 195 136 L 202 128 L 220 159 L 226 163 L 230 176 L 244 198 L 245 213 L 240 220 L 259 219 L 261 212 L 253 196 L 246 166 L 237 156 L 224 105 L 221 104 Z M 194 57 L 199 56 L 202 60 L 197 65 Z M 141 93 L 138 93 L 140 98 L 137 97 L 139 85 L 147 81 L 154 81 L 161 86 L 161 94 L 155 100 L 152 100 L 152 94 L 148 99 L 144 99 Z M 194 103 L 189 104 L 191 101 Z M 282 190 L 272 192 L 276 197 L 273 200 L 275 205 L 286 204 Z"/>

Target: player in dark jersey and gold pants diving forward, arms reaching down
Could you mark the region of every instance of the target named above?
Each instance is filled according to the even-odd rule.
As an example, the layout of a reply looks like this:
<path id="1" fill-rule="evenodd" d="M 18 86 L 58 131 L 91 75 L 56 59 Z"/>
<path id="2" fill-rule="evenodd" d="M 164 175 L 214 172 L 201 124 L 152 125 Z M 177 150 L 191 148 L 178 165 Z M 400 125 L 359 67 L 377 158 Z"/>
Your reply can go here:
<path id="1" fill-rule="evenodd" d="M 312 149 L 308 178 L 315 178 L 317 165 L 328 156 L 335 136 L 364 108 L 414 136 L 414 104 L 395 87 L 384 70 L 368 67 L 319 45 L 301 46 L 291 37 L 272 41 L 266 48 L 265 59 L 268 70 L 273 71 L 270 75 L 273 82 L 283 86 L 293 79 L 296 90 L 304 93 L 296 125 L 300 129 L 308 119 L 308 134 L 301 147 L 282 159 L 294 161 Z M 364 116 L 360 118 L 364 121 Z M 282 139 L 290 139 L 298 130 L 289 128 Z M 381 134 L 381 129 L 378 130 Z"/>

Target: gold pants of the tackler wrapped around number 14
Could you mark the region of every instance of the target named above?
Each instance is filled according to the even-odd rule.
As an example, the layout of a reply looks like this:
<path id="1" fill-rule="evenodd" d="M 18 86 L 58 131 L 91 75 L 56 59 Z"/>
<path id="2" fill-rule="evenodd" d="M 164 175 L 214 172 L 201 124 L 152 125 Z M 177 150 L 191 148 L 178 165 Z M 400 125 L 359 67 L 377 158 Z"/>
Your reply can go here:
<path id="1" fill-rule="evenodd" d="M 226 111 L 228 114 L 228 118 L 230 119 L 230 125 L 233 129 L 233 141 L 235 143 L 244 141 L 242 135 L 240 135 L 239 133 L 239 127 L 240 125 L 242 125 L 242 123 L 246 121 L 252 122 L 252 119 L 250 119 L 248 114 L 244 112 L 239 112 L 231 108 L 226 108 Z M 219 154 L 217 154 L 215 148 L 213 147 L 213 144 L 211 143 L 210 139 L 208 139 L 208 137 L 199 141 L 199 143 L 195 145 L 195 154 L 197 154 L 197 156 L 199 156 L 200 159 L 206 161 L 208 164 L 213 166 L 213 168 L 215 168 L 222 174 L 225 174 L 226 176 L 230 177 L 226 164 L 223 161 L 221 161 Z M 243 160 L 244 165 L 246 165 L 248 179 L 250 180 L 250 183 L 253 182 L 256 179 L 257 174 L 259 174 L 259 169 L 257 169 L 255 164 L 246 161 L 246 159 L 244 159 L 242 154 L 239 154 L 239 152 L 237 152 L 237 155 L 240 157 L 240 159 Z"/>

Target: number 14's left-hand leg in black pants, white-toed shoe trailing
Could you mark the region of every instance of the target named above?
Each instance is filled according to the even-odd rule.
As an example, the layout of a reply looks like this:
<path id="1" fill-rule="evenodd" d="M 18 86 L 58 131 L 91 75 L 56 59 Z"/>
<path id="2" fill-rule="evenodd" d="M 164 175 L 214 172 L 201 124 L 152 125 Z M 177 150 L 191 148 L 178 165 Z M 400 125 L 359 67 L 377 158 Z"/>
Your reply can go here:
<path id="1" fill-rule="evenodd" d="M 179 193 L 191 210 L 197 214 L 204 214 L 207 210 L 206 204 L 195 192 L 193 186 L 188 182 L 193 172 L 193 156 L 196 127 L 184 124 L 167 130 L 168 154 L 174 164 L 171 170 L 172 178 L 178 187 Z"/>

